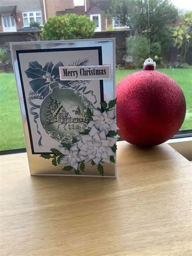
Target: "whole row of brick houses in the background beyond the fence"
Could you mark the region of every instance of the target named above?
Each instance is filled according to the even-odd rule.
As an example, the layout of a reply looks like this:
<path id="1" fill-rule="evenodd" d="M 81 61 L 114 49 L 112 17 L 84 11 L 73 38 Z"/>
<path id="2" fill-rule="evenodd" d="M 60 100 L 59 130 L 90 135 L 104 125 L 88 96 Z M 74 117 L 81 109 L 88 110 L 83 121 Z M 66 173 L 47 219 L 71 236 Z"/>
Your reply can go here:
<path id="1" fill-rule="evenodd" d="M 108 26 L 123 29 L 118 17 L 106 18 L 111 0 L 0 0 L 0 32 L 30 31 L 31 22 L 43 26 L 51 16 L 76 13 L 86 15 L 96 23 L 96 32 Z"/>

